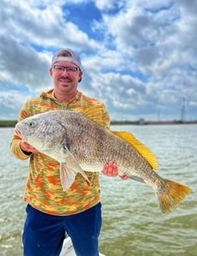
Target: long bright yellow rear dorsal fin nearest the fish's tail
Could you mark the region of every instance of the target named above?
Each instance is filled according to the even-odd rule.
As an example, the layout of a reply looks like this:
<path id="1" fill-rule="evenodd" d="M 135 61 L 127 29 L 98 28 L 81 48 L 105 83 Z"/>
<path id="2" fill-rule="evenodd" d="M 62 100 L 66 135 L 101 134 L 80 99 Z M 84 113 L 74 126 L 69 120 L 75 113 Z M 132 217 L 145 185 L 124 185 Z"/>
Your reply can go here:
<path id="1" fill-rule="evenodd" d="M 148 161 L 148 164 L 152 166 L 154 170 L 158 169 L 158 160 L 156 159 L 154 153 L 144 144 L 136 139 L 128 131 L 112 131 L 118 137 L 123 138 L 127 143 L 130 143 L 131 146 L 136 148 L 136 151 L 142 155 L 142 157 Z"/>

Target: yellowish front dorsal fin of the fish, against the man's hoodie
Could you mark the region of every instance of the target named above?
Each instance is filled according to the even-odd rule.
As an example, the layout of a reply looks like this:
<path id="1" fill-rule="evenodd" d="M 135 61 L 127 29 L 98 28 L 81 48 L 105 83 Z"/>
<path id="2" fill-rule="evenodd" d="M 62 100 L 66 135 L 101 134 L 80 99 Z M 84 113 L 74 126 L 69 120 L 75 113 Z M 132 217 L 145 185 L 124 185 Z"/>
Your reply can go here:
<path id="1" fill-rule="evenodd" d="M 102 108 L 101 106 L 92 106 L 90 108 L 83 109 L 82 113 L 84 116 L 88 117 L 89 119 L 95 121 L 98 125 L 103 126 L 102 118 Z"/>

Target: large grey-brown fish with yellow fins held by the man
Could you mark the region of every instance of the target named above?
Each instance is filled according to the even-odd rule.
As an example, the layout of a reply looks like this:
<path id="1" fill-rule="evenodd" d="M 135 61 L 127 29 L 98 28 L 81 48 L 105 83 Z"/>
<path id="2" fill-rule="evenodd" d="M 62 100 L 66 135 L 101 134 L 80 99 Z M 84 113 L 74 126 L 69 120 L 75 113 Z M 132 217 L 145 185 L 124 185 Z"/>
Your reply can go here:
<path id="1" fill-rule="evenodd" d="M 158 197 L 161 212 L 171 212 L 191 192 L 188 186 L 159 176 L 158 160 L 128 131 L 103 127 L 101 108 L 83 111 L 52 110 L 21 120 L 15 131 L 39 152 L 60 163 L 62 189 L 68 190 L 80 173 L 101 172 L 113 161 L 119 176 L 148 184 Z"/>

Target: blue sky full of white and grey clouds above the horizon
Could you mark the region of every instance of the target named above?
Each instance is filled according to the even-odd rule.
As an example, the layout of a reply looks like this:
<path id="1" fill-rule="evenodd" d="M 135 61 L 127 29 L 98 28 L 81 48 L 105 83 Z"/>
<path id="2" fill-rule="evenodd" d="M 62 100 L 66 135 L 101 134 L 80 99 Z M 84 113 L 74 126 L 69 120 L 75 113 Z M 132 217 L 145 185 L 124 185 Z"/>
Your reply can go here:
<path id="1" fill-rule="evenodd" d="M 103 102 L 112 120 L 197 119 L 196 0 L 0 6 L 0 119 L 17 119 L 27 99 L 53 88 L 50 62 L 62 48 L 78 52 L 78 90 Z"/>

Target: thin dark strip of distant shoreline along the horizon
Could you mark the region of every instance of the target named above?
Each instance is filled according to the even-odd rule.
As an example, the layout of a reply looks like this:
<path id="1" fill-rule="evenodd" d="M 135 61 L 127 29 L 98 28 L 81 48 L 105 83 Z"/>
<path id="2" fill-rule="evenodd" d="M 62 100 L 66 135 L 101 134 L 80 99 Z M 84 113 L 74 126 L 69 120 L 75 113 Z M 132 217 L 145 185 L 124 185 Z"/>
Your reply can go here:
<path id="1" fill-rule="evenodd" d="M 0 120 L 0 127 L 14 127 L 16 120 Z M 194 121 L 168 120 L 168 121 L 111 121 L 111 125 L 191 125 L 197 124 Z"/>

